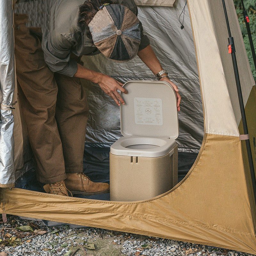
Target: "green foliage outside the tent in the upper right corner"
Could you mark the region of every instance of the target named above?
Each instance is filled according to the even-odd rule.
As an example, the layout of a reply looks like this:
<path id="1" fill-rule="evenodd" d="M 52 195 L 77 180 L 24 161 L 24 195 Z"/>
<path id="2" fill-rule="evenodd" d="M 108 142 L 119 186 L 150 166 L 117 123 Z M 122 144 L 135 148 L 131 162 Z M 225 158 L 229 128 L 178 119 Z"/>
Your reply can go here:
<path id="1" fill-rule="evenodd" d="M 236 6 L 237 17 L 238 17 L 241 31 L 244 37 L 244 44 L 245 44 L 246 52 L 251 65 L 252 74 L 253 74 L 254 80 L 256 80 L 256 71 L 255 71 L 255 67 L 252 59 L 251 47 L 250 47 L 247 30 L 244 22 L 242 1 L 234 0 L 234 4 Z M 254 49 L 256 49 L 256 0 L 244 0 L 244 7 L 250 19 L 249 25 L 252 32 L 252 41 L 254 44 Z"/>

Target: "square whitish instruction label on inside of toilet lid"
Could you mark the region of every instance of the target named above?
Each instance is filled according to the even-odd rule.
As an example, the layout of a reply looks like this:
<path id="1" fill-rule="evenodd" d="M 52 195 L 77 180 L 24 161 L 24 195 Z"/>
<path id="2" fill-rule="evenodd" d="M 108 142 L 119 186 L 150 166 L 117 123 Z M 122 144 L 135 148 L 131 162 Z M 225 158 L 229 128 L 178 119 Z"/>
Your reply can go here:
<path id="1" fill-rule="evenodd" d="M 162 99 L 134 98 L 135 124 L 163 125 Z"/>

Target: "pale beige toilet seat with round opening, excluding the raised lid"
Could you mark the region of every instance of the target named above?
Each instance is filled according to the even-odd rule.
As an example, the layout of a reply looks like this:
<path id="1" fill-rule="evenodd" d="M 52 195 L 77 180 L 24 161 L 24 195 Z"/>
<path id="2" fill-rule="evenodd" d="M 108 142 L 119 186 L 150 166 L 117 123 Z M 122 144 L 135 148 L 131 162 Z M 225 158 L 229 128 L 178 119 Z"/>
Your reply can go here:
<path id="1" fill-rule="evenodd" d="M 132 145 L 137 145 L 138 147 L 127 148 Z M 141 149 L 140 145 L 153 145 L 155 147 Z M 170 138 L 125 136 L 118 139 L 110 147 L 110 153 L 117 156 L 159 157 L 170 153 L 176 145 L 175 140 Z"/>

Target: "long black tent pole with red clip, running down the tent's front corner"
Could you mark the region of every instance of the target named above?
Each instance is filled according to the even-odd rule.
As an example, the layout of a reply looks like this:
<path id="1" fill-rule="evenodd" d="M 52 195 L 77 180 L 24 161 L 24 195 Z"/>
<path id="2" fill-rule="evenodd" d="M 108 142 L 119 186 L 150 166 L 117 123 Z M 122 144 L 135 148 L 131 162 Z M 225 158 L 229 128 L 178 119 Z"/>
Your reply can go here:
<path id="1" fill-rule="evenodd" d="M 222 4 L 223 4 L 223 9 L 224 9 L 224 13 L 225 13 L 227 28 L 228 28 L 228 36 L 229 36 L 228 37 L 228 52 L 231 53 L 231 56 L 232 56 L 232 62 L 233 62 L 233 68 L 234 68 L 234 73 L 235 73 L 235 78 L 236 78 L 236 88 L 237 88 L 237 94 L 238 94 L 239 105 L 240 105 L 240 110 L 241 110 L 244 134 L 248 135 L 248 138 L 245 140 L 245 143 L 246 143 L 246 149 L 247 149 L 247 155 L 248 155 L 250 173 L 251 173 L 251 179 L 252 179 L 252 189 L 253 189 L 253 195 L 254 195 L 254 202 L 256 204 L 256 178 L 255 178 L 255 172 L 254 172 L 254 167 L 253 167 L 252 151 L 251 151 L 251 145 L 250 145 L 250 140 L 249 140 L 249 134 L 248 134 L 246 117 L 245 117 L 245 111 L 244 111 L 243 95 L 242 95 L 242 90 L 241 90 L 241 84 L 240 84 L 237 62 L 236 62 L 235 43 L 234 43 L 234 38 L 231 36 L 231 31 L 230 31 L 229 22 L 228 22 L 228 13 L 227 13 L 227 9 L 226 9 L 225 0 L 222 0 Z"/>

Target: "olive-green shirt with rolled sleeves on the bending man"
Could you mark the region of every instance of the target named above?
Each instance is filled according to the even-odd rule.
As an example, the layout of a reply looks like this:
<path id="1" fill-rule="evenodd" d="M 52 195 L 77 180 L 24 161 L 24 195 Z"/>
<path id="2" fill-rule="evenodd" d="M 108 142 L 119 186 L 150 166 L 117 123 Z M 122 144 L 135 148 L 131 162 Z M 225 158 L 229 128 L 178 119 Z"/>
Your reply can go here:
<path id="1" fill-rule="evenodd" d="M 113 4 L 128 7 L 135 15 L 138 8 L 134 0 L 114 0 Z M 53 71 L 66 76 L 74 76 L 77 62 L 70 58 L 70 53 L 77 56 L 95 55 L 100 53 L 85 31 L 77 25 L 79 5 L 84 0 L 51 0 L 48 26 L 44 28 L 42 49 L 44 60 Z M 141 41 L 139 51 L 149 45 L 148 37 L 143 35 L 140 22 Z M 84 33 L 85 32 L 85 33 Z"/>

